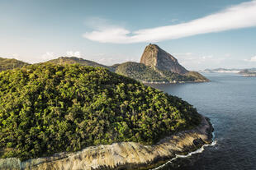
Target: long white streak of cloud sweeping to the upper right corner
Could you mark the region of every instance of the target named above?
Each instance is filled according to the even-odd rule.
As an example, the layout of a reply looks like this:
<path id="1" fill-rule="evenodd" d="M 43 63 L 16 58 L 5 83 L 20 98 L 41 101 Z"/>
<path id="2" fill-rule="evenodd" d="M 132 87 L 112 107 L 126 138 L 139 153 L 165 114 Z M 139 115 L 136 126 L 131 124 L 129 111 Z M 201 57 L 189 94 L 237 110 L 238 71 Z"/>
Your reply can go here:
<path id="1" fill-rule="evenodd" d="M 97 26 L 83 37 L 101 43 L 131 44 L 179 39 L 195 34 L 206 34 L 256 26 L 256 0 L 227 7 L 223 11 L 178 25 L 167 25 L 145 30 L 126 30 L 121 26 Z"/>

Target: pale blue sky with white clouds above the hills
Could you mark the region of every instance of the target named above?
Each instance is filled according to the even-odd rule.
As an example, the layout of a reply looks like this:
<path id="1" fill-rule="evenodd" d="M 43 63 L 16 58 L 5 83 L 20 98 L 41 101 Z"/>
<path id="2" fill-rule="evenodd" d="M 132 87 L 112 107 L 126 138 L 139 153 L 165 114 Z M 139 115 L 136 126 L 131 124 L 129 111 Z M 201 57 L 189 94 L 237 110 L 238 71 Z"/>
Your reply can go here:
<path id="1" fill-rule="evenodd" d="M 149 43 L 189 70 L 256 67 L 256 0 L 0 0 L 0 57 L 113 65 Z"/>

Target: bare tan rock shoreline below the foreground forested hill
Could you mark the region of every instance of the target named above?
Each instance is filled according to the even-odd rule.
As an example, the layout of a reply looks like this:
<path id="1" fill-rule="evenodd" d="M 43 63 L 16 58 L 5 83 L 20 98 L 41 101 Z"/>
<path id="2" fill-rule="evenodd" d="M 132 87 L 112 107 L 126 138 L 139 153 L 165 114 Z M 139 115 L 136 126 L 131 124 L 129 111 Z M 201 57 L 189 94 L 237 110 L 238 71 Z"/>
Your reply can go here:
<path id="1" fill-rule="evenodd" d="M 76 153 L 59 153 L 50 157 L 29 159 L 0 159 L 0 169 L 147 169 L 159 166 L 176 154 L 187 154 L 211 144 L 213 127 L 207 117 L 188 131 L 167 136 L 155 145 L 120 142 L 112 145 L 90 146 Z"/>

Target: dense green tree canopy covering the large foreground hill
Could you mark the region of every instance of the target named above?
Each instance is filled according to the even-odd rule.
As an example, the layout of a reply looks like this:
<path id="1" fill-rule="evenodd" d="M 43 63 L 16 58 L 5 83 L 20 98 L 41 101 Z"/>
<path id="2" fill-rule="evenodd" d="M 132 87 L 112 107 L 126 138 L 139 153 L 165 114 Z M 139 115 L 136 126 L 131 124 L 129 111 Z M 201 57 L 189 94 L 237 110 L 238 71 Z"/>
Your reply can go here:
<path id="1" fill-rule="evenodd" d="M 197 126 L 187 102 L 102 67 L 44 63 L 0 72 L 0 156 L 21 160 Z"/>

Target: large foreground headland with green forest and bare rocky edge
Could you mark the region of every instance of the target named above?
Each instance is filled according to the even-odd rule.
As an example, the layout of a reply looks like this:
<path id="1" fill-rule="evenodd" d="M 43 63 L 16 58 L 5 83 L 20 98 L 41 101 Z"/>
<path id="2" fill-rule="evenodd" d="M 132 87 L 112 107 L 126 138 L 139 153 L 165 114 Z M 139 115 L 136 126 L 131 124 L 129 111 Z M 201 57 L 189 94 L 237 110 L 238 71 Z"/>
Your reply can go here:
<path id="1" fill-rule="evenodd" d="M 145 168 L 211 143 L 192 105 L 103 67 L 34 64 L 0 89 L 0 168 Z"/>

